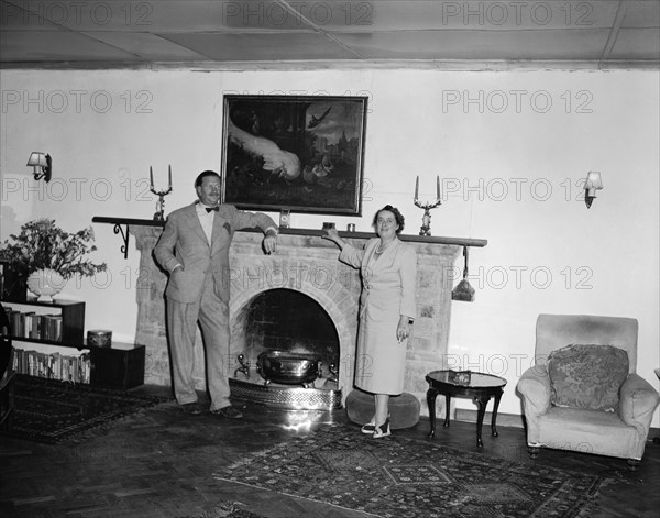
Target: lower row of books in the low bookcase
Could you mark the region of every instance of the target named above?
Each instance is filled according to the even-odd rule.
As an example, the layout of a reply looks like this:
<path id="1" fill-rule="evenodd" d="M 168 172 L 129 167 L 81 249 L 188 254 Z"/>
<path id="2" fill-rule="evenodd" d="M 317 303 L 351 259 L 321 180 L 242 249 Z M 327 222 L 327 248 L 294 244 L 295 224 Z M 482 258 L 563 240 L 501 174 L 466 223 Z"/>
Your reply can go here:
<path id="1" fill-rule="evenodd" d="M 40 353 L 14 349 L 11 365 L 19 374 L 61 379 L 72 383 L 89 383 L 91 362 L 89 353 L 79 356 L 68 356 L 61 353 Z"/>

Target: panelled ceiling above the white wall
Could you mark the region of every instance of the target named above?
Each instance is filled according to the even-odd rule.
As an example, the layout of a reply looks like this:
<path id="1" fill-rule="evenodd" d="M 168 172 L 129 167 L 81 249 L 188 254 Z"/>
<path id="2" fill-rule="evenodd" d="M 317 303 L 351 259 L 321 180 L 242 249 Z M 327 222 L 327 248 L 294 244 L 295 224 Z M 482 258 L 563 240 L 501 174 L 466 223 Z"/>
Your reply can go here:
<path id="1" fill-rule="evenodd" d="M 659 0 L 1 0 L 0 66 L 659 68 Z"/>

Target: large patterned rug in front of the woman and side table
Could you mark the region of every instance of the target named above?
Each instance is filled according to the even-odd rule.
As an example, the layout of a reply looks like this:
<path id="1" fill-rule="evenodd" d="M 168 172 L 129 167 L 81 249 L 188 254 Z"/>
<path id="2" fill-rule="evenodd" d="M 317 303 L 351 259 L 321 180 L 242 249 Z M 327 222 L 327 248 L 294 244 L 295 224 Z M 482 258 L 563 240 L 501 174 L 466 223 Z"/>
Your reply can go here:
<path id="1" fill-rule="evenodd" d="M 604 482 L 343 426 L 246 455 L 215 478 L 383 518 L 572 518 Z"/>

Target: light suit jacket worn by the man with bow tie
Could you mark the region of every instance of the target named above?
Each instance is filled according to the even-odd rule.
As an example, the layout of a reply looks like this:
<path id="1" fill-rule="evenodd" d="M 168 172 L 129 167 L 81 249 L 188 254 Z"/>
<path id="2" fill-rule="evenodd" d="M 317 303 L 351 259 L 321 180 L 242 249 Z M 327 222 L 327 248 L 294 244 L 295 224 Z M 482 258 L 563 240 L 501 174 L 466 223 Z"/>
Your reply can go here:
<path id="1" fill-rule="evenodd" d="M 213 219 L 209 246 L 196 206 L 197 202 L 175 210 L 167 217 L 165 230 L 154 249 L 156 260 L 170 274 L 165 295 L 179 302 L 199 301 L 204 283 L 210 273 L 216 294 L 221 300 L 229 302 L 229 247 L 233 233 L 255 227 L 265 232 L 270 228 L 276 230 L 277 225 L 266 214 L 244 212 L 231 205 L 221 205 Z M 183 268 L 173 272 L 177 264 Z"/>

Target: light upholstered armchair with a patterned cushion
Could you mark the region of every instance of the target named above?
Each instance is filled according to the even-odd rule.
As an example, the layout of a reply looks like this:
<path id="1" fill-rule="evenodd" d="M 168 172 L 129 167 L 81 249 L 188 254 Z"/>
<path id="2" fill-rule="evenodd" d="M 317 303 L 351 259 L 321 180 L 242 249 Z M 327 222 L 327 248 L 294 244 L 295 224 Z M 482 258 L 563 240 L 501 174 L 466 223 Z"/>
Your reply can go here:
<path id="1" fill-rule="evenodd" d="M 539 315 L 535 365 L 517 385 L 532 459 L 546 447 L 637 467 L 660 401 L 636 374 L 637 331 L 631 318 Z"/>

